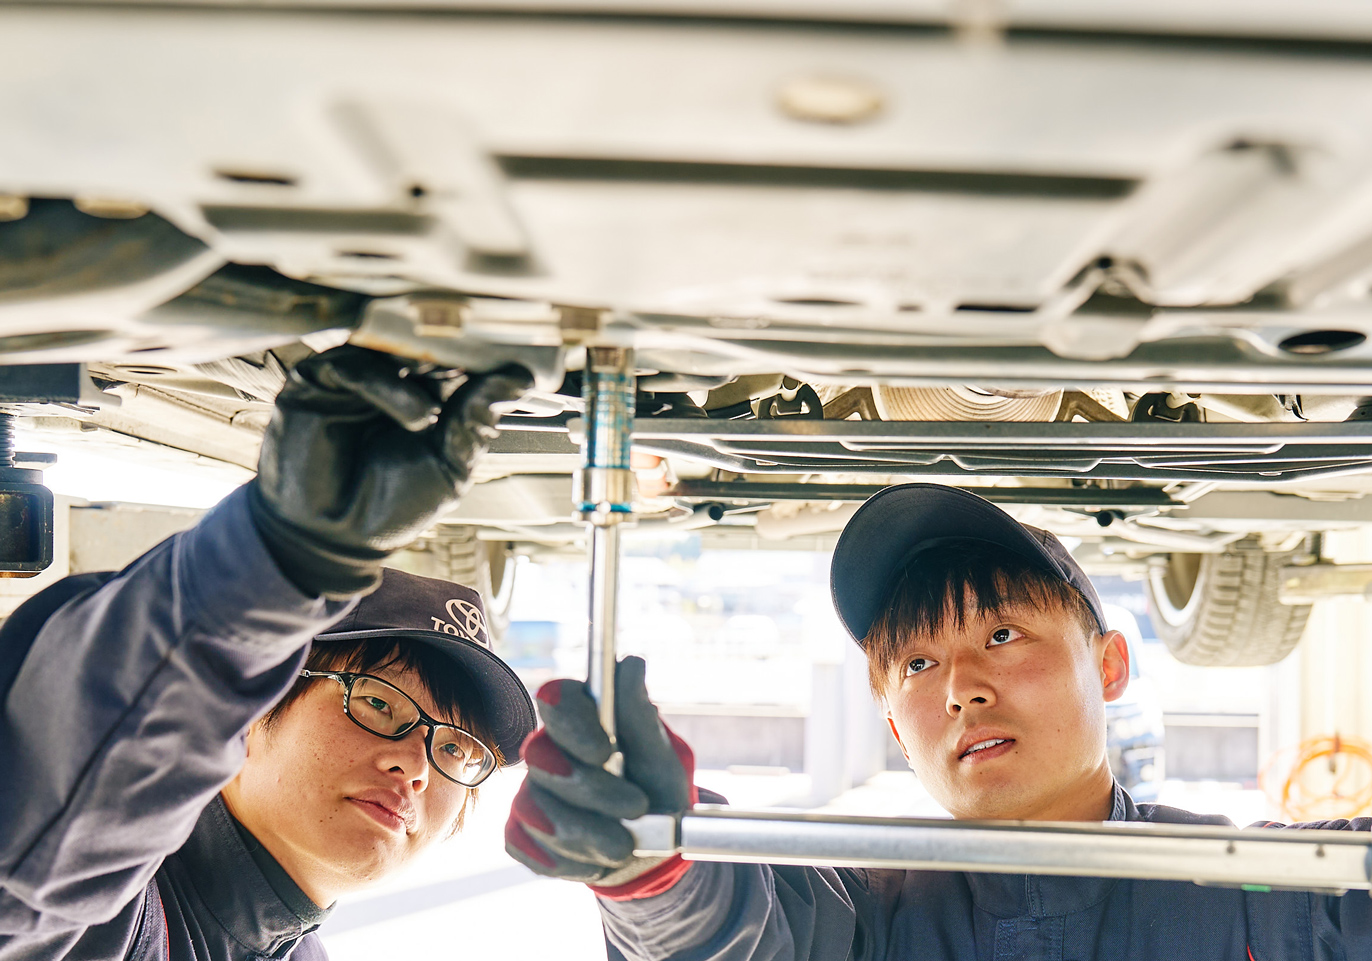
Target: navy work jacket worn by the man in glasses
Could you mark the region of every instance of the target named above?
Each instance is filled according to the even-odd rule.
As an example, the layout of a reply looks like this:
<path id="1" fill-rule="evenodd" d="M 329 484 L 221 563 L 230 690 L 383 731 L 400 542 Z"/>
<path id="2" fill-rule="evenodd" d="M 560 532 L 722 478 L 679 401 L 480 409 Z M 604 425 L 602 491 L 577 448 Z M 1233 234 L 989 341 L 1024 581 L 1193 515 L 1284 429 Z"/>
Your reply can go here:
<path id="1" fill-rule="evenodd" d="M 348 608 L 281 575 L 239 490 L 0 666 L 0 961 L 324 958 L 327 912 L 218 792 Z"/>

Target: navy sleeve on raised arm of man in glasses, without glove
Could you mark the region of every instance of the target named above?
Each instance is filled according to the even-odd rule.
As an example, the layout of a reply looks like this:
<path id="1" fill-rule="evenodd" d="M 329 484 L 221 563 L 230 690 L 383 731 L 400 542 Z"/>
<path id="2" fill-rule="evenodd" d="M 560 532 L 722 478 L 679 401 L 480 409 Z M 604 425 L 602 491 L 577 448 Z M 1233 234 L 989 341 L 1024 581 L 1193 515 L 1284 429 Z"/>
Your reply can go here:
<path id="1" fill-rule="evenodd" d="M 243 489 L 62 607 L 0 714 L 0 936 L 99 924 L 137 898 L 348 607 L 281 575 Z"/>

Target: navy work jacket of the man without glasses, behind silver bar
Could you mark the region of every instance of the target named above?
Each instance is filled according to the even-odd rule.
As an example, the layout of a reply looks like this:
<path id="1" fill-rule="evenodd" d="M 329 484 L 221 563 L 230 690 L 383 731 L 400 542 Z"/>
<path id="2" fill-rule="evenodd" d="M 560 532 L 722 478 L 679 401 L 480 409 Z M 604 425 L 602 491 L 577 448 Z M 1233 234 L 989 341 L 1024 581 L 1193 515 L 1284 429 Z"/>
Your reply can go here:
<path id="1" fill-rule="evenodd" d="M 1111 820 L 1233 826 L 1118 785 Z M 631 961 L 1372 961 L 1367 891 L 698 861 L 660 895 L 600 906 L 611 957 Z"/>

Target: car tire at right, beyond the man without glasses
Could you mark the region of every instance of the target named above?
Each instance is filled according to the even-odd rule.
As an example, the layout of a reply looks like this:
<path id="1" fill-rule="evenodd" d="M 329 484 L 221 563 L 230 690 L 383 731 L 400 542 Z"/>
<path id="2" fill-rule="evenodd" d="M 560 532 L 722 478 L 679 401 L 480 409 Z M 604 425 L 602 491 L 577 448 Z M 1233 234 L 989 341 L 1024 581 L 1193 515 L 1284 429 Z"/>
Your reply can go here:
<path id="1" fill-rule="evenodd" d="M 1301 642 L 1308 604 L 1277 600 L 1281 567 L 1302 552 L 1246 538 L 1224 553 L 1172 553 L 1148 575 L 1152 627 L 1172 655 L 1200 667 L 1275 664 Z"/>

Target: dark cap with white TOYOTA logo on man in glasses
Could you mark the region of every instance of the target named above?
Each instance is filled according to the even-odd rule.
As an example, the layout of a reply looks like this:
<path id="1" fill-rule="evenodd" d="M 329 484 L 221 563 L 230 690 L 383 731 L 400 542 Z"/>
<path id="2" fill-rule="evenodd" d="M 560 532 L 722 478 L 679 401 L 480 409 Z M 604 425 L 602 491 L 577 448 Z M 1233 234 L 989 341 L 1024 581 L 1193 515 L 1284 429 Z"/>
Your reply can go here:
<path id="1" fill-rule="evenodd" d="M 491 651 L 480 593 L 453 581 L 384 568 L 381 586 L 314 640 L 373 637 L 427 644 L 451 658 L 480 695 L 487 728 L 505 765 L 519 762 L 520 745 L 538 726 L 534 700 L 513 669 Z"/>

